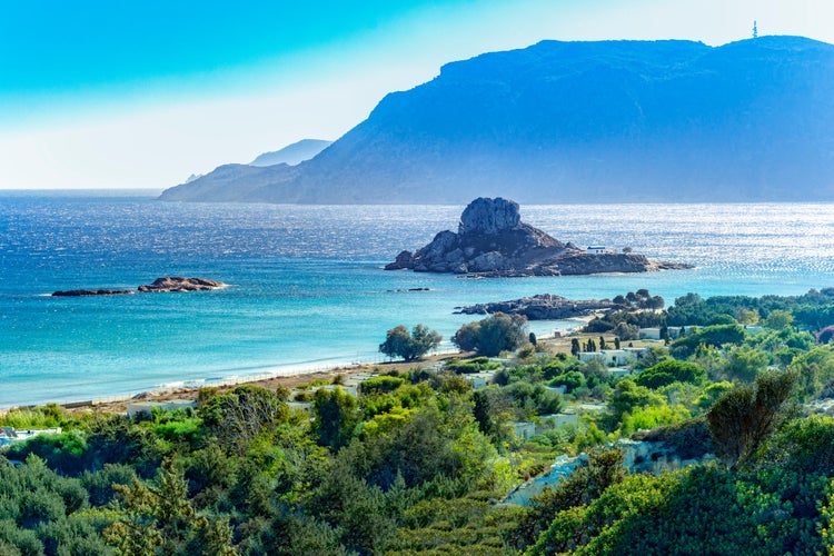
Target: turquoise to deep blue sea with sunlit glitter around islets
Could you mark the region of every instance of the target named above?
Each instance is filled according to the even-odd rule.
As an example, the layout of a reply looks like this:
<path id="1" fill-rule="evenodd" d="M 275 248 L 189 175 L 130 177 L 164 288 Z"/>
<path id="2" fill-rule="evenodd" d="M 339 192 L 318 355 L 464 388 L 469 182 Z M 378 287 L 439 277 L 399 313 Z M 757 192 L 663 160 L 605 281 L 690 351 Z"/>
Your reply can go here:
<path id="1" fill-rule="evenodd" d="M 631 247 L 692 270 L 466 279 L 385 271 L 403 249 L 457 229 L 463 206 L 162 202 L 148 191 L 0 191 L 0 408 L 100 400 L 179 386 L 381 363 L 386 330 L 445 338 L 465 305 L 639 288 L 797 295 L 834 286 L 834 205 L 523 206 L 522 219 L 579 246 Z M 135 289 L 161 276 L 229 288 Z M 532 322 L 537 335 L 577 326 Z"/>

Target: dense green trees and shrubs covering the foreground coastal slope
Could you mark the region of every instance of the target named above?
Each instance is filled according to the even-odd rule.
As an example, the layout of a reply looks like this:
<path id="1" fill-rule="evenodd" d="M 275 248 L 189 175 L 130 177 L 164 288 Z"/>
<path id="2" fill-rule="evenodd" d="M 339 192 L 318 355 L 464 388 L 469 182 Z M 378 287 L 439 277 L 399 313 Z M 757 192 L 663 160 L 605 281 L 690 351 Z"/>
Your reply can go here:
<path id="1" fill-rule="evenodd" d="M 0 553 L 824 554 L 833 308 L 812 290 L 618 309 L 684 334 L 614 369 L 494 315 L 455 335 L 477 357 L 380 367 L 356 395 L 340 377 L 304 403 L 244 385 L 132 419 L 13 409 L 3 426 L 61 431 L 4 448 Z"/>

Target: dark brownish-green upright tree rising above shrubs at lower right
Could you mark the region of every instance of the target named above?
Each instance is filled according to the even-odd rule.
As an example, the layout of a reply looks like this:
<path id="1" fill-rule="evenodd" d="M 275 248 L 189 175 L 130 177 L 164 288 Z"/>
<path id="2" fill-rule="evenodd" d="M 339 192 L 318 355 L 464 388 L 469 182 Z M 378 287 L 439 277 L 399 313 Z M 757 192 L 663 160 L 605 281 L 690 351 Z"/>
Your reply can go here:
<path id="1" fill-rule="evenodd" d="M 795 385 L 793 373 L 763 373 L 755 384 L 738 386 L 713 404 L 706 421 L 718 455 L 731 470 L 742 467 L 771 434 Z"/>

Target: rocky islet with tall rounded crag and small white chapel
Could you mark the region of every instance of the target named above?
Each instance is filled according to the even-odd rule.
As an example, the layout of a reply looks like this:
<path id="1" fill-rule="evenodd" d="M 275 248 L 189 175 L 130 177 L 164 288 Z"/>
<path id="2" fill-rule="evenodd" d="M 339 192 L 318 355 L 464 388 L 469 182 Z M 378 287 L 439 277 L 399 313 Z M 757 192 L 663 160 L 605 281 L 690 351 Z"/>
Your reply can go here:
<path id="1" fill-rule="evenodd" d="M 478 277 L 646 272 L 692 268 L 643 255 L 588 252 L 548 236 L 520 219 L 518 203 L 478 198 L 460 216 L 458 231 L 441 231 L 417 252 L 401 251 L 386 270 L 475 274 Z"/>

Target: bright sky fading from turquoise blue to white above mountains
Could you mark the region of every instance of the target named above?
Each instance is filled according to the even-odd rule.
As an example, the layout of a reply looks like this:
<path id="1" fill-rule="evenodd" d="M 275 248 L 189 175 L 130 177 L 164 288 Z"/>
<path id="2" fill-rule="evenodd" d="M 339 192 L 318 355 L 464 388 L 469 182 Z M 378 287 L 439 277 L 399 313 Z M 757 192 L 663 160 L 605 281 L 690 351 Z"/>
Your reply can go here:
<path id="1" fill-rule="evenodd" d="M 540 40 L 834 43 L 831 0 L 3 0 L 0 189 L 161 190 L 338 139 L 444 63 Z"/>

